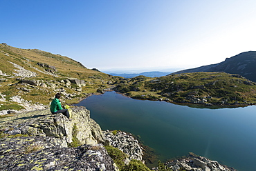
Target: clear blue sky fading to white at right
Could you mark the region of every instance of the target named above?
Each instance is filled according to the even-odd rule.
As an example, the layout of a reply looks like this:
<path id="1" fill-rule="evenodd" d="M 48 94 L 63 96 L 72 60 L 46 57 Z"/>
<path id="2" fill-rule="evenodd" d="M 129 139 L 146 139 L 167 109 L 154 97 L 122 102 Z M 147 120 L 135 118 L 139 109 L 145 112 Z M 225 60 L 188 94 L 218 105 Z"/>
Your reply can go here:
<path id="1" fill-rule="evenodd" d="M 0 43 L 99 70 L 194 68 L 256 50 L 254 0 L 1 0 Z"/>

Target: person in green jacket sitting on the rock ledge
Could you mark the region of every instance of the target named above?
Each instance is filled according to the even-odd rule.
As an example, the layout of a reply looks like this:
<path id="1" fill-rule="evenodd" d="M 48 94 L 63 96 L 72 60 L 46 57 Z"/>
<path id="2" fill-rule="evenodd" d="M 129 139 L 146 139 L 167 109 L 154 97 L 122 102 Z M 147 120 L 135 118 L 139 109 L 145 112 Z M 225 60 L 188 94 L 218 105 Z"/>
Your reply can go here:
<path id="1" fill-rule="evenodd" d="M 62 103 L 60 102 L 60 97 L 62 97 L 62 94 L 60 94 L 60 93 L 55 94 L 55 99 L 53 99 L 53 101 L 51 103 L 51 108 L 50 108 L 51 113 L 52 114 L 62 113 L 66 117 L 68 117 L 68 119 L 70 119 L 68 109 L 62 108 Z"/>

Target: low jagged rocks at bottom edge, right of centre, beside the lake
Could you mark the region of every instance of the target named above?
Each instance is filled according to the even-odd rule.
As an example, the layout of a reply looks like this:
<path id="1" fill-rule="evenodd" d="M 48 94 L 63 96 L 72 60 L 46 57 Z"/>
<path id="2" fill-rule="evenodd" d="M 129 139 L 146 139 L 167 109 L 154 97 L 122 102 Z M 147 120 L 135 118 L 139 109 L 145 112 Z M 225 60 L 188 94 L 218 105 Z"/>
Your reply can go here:
<path id="1" fill-rule="evenodd" d="M 193 153 L 190 153 L 188 157 L 185 158 L 168 161 L 161 168 L 153 168 L 153 170 L 161 170 L 163 167 L 173 171 L 235 171 L 234 168 L 221 165 L 218 161 L 211 161 L 205 157 L 196 156 Z"/>

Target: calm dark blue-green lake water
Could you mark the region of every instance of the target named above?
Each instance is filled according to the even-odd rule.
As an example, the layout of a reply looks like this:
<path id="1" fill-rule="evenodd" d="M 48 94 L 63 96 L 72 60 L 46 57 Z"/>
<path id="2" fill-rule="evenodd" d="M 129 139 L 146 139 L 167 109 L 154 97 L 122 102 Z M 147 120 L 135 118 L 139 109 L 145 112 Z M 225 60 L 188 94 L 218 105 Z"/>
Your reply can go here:
<path id="1" fill-rule="evenodd" d="M 161 161 L 194 152 L 240 171 L 256 170 L 256 106 L 190 108 L 116 92 L 93 95 L 77 105 L 89 109 L 102 130 L 140 135 Z"/>

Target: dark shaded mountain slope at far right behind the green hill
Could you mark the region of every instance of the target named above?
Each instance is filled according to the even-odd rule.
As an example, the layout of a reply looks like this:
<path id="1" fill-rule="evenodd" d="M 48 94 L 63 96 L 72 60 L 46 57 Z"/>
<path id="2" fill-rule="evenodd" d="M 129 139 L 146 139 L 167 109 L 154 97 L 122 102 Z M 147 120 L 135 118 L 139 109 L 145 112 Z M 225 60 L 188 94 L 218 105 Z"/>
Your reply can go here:
<path id="1" fill-rule="evenodd" d="M 221 63 L 181 70 L 173 72 L 172 74 L 186 72 L 227 72 L 230 74 L 240 74 L 256 82 L 256 51 L 242 52 L 234 57 L 226 58 L 226 60 Z"/>

